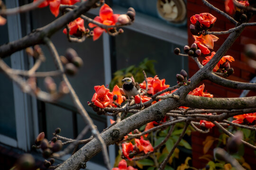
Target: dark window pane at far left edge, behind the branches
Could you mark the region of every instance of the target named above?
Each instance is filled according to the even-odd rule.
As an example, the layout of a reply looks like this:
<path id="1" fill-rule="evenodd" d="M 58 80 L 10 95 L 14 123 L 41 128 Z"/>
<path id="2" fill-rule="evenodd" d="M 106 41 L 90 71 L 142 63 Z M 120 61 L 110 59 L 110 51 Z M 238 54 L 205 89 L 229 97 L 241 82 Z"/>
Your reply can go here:
<path id="1" fill-rule="evenodd" d="M 7 24 L 0 26 L 0 44 L 9 42 Z M 10 57 L 4 59 L 10 66 Z M 13 99 L 13 84 L 12 81 L 0 73 L 0 134 L 16 139 L 16 121 Z"/>

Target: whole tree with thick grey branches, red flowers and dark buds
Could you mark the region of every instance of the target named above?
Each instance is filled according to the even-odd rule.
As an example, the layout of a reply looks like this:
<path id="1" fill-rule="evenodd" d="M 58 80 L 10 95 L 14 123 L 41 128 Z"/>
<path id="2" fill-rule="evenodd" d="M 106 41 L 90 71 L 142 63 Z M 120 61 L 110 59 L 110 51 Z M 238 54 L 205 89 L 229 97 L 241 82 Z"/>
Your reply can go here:
<path id="1" fill-rule="evenodd" d="M 186 54 L 182 54 L 178 48 L 174 49 L 175 54 L 194 59 L 200 68 L 190 79 L 187 78 L 186 71 L 181 70 L 180 74 L 176 74 L 177 84 L 172 86 L 166 85 L 165 79 L 160 79 L 157 76 L 147 77 L 146 73 L 143 72 L 145 80 L 142 83 L 139 82 L 139 86 L 144 91 L 141 93 L 141 97 L 136 95 L 130 101 L 127 100 L 124 90 L 118 85 L 114 86 L 113 90 L 111 90 L 112 92 L 104 85 L 95 85 L 95 93 L 91 100 L 88 99 L 90 100 L 88 105 L 99 115 L 113 116 L 116 119 L 115 121 L 111 120 L 112 125 L 101 133 L 93 124 L 66 76 L 75 74 L 77 68 L 82 67 L 82 59 L 78 57 L 73 49 L 68 49 L 65 56 L 59 56 L 55 45 L 50 40 L 56 31 L 63 29 L 63 33 L 67 35 L 68 40 L 71 42 L 83 42 L 90 37 L 96 41 L 104 32 L 113 36 L 122 34 L 123 30 L 119 29 L 119 27 L 133 23 L 136 15 L 133 8 L 129 8 L 126 14 L 114 14 L 113 10 L 104 3 L 104 0 L 98 1 L 34 0 L 33 3 L 20 8 L 1 8 L 0 10 L 0 25 L 6 23 L 6 19 L 2 16 L 47 6 L 49 6 L 55 17 L 59 15 L 60 10 L 63 14 L 49 25 L 37 29 L 22 39 L 0 46 L 0 69 L 18 84 L 24 93 L 31 94 L 45 102 L 55 102 L 64 94 L 69 93 L 75 107 L 87 124 L 76 139 L 60 136 L 59 128 L 55 130 L 51 141 L 45 139 L 43 132 L 37 136 L 34 147 L 42 151 L 43 156 L 46 158 L 46 167 L 57 170 L 85 168 L 87 161 L 95 154 L 103 151 L 106 167 L 111 170 L 107 146 L 118 144 L 121 154 L 117 162 L 118 167 L 112 170 L 136 170 L 135 167 L 129 166 L 127 161 L 129 163 L 139 161 L 149 156 L 152 156 L 155 162 L 153 169 L 168 169 L 166 164 L 170 163 L 175 149 L 178 144 L 182 143 L 183 136 L 189 127 L 201 133 L 208 133 L 212 127 L 216 126 L 230 136 L 230 141 L 233 140 L 233 143 L 230 142 L 229 148 L 242 142 L 252 149 L 256 149 L 255 144 L 250 144 L 244 141 L 241 135 L 234 135 L 227 130 L 230 126 L 256 130 L 254 127 L 256 124 L 256 97 L 214 98 L 212 94 L 205 91 L 204 85 L 198 87 L 202 80 L 210 80 L 218 85 L 234 89 L 256 90 L 255 83 L 242 83 L 225 78 L 233 74 L 234 69 L 231 67 L 231 62 L 235 62 L 232 56 L 226 55 L 226 51 L 246 26 L 256 26 L 256 23 L 249 22 L 256 12 L 256 2 L 254 0 L 226 0 L 225 7 L 229 15 L 215 8 L 208 1 L 202 0 L 208 8 L 217 11 L 223 17 L 227 17 L 234 24 L 234 27 L 227 31 L 211 32 L 210 29 L 214 26 L 214 23 L 218 22 L 216 17 L 210 13 L 201 13 L 195 14 L 190 18 L 190 30 L 195 42 L 184 46 Z M 4 6 L 2 2 L 0 4 L 2 7 Z M 99 16 L 92 19 L 83 15 L 91 8 L 96 7 L 100 8 Z M 235 17 L 233 18 L 234 14 Z M 89 27 L 93 30 L 86 29 L 84 21 L 88 22 Z M 219 39 L 217 37 L 218 34 L 229 34 L 229 36 L 219 49 L 214 49 L 214 42 Z M 46 44 L 55 59 L 56 71 L 37 72 L 37 68 L 45 60 L 45 56 L 38 44 Z M 30 46 L 33 46 L 33 49 Z M 34 56 L 36 59 L 35 65 L 30 70 L 14 70 L 9 68 L 2 60 L 10 54 L 23 49 L 26 49 L 28 55 Z M 251 49 L 251 51 L 255 51 L 255 49 Z M 202 54 L 205 55 L 205 59 L 201 63 L 198 57 L 201 57 Z M 254 53 L 254 58 L 255 55 Z M 24 76 L 26 78 L 23 78 Z M 47 92 L 37 88 L 36 77 L 39 76 L 46 77 Z M 60 76 L 62 78 L 63 81 L 60 83 L 58 90 L 54 79 L 50 76 Z M 139 104 L 140 100 L 142 100 L 143 106 Z M 128 102 L 128 105 L 125 102 Z M 234 117 L 233 121 L 227 120 L 232 117 Z M 174 136 L 173 132 L 177 124 L 181 124 L 182 128 L 176 134 L 178 136 L 175 137 L 175 140 L 170 143 L 170 137 Z M 159 132 L 159 129 L 165 131 L 165 134 L 163 140 L 153 147 L 152 141 L 148 136 L 151 135 L 151 132 Z M 88 139 L 82 139 L 86 133 L 91 133 L 92 136 Z M 69 145 L 62 150 L 64 144 Z M 74 152 L 62 164 L 54 165 L 54 161 L 50 157 L 63 156 L 79 144 L 83 144 L 80 150 Z M 164 145 L 166 145 L 166 148 L 163 149 Z M 163 157 L 164 159 L 158 163 L 155 161 L 154 155 L 160 149 L 162 153 L 165 152 L 166 154 Z M 237 147 L 233 147 L 232 151 L 236 149 Z M 230 149 L 229 153 L 231 153 Z M 238 161 L 220 148 L 216 149 L 215 156 L 217 159 L 224 160 L 239 170 L 244 169 Z M 139 163 L 131 165 L 140 167 Z"/>

